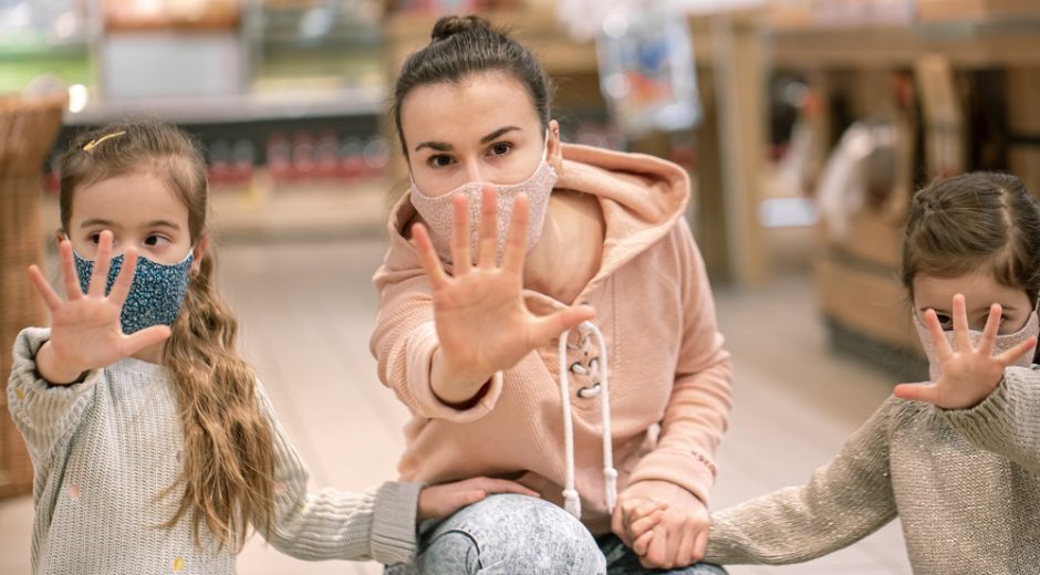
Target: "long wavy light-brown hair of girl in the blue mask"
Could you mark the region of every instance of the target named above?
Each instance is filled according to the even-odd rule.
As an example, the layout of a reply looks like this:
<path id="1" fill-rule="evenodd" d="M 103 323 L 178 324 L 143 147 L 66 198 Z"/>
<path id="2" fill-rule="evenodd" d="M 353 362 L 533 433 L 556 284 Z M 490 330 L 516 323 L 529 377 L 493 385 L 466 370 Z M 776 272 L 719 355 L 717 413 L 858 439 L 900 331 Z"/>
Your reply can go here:
<path id="1" fill-rule="evenodd" d="M 207 236 L 209 185 L 206 163 L 193 139 L 160 122 L 112 124 L 76 137 L 60 160 L 61 223 L 67 230 L 76 190 L 129 174 L 158 177 L 188 208 L 191 244 Z M 214 286 L 207 250 L 193 272 L 180 314 L 166 342 L 184 430 L 181 472 L 159 496 L 184 487 L 170 529 L 191 515 L 195 543 L 206 526 L 219 544 L 241 550 L 248 524 L 270 529 L 273 514 L 274 443 L 260 410 L 256 375 L 236 351 L 238 322 Z"/>

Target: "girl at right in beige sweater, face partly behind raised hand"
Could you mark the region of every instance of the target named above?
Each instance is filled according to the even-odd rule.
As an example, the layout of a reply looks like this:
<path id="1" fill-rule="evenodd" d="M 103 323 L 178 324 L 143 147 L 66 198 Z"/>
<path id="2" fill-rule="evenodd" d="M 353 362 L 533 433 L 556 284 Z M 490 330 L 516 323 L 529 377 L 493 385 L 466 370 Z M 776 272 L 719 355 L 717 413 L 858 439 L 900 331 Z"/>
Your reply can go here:
<path id="1" fill-rule="evenodd" d="M 809 561 L 898 516 L 914 573 L 1040 568 L 1040 206 L 1008 175 L 927 187 L 903 283 L 932 383 L 897 386 L 807 485 L 714 513 L 708 561 Z"/>

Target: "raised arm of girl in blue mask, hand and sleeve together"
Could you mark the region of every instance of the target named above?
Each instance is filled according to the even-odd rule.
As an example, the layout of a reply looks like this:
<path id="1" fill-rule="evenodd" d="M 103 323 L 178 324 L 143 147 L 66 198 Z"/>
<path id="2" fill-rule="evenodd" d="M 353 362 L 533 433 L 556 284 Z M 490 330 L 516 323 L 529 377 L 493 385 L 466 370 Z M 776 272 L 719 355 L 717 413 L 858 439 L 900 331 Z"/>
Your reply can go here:
<path id="1" fill-rule="evenodd" d="M 106 367 L 169 335 L 169 327 L 153 326 L 124 335 L 119 313 L 129 290 L 136 252 L 128 249 L 125 265 L 106 295 L 112 232 L 101 233 L 97 265 L 90 292 L 80 291 L 72 245 L 59 244 L 65 300 L 62 301 L 40 270 L 29 269 L 40 296 L 51 311 L 51 328 L 29 328 L 14 344 L 14 364 L 8 385 L 11 417 L 25 438 L 38 466 L 49 463 L 58 446 L 75 432 L 93 400 L 94 385 Z"/>

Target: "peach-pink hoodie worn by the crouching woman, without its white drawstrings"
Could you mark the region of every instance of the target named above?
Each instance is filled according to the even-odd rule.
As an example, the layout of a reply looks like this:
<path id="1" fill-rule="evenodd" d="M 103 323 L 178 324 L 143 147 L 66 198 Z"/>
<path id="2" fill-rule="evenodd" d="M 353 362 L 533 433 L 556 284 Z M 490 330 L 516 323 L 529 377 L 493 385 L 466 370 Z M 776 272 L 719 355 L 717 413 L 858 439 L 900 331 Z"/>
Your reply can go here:
<path id="1" fill-rule="evenodd" d="M 557 188 L 596 196 L 606 221 L 600 271 L 576 301 L 595 307 L 609 347 L 618 491 L 635 481 L 665 480 L 707 503 L 730 408 L 731 367 L 704 263 L 683 217 L 688 176 L 639 154 L 566 145 L 563 158 Z M 406 195 L 391 217 L 391 247 L 374 279 L 381 302 L 371 342 L 381 380 L 414 416 L 405 428 L 401 479 L 505 477 L 561 502 L 565 461 L 555 342 L 496 375 L 475 407 L 459 410 L 438 400 L 429 385 L 438 345 L 429 283 L 403 234 L 414 218 Z M 563 306 L 533 291 L 524 300 L 535 314 Z M 580 351 L 571 353 L 568 365 L 582 360 Z M 578 395 L 591 385 L 587 377 L 569 379 L 582 520 L 602 534 L 610 531 L 610 516 L 600 402 Z"/>

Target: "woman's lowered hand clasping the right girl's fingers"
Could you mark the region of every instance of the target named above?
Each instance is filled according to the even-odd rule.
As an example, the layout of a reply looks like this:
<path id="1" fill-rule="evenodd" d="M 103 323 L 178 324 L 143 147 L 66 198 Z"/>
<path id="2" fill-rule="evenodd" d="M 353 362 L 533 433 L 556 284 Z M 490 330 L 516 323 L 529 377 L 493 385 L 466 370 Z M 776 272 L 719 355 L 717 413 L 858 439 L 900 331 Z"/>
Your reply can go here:
<path id="1" fill-rule="evenodd" d="M 648 521 L 639 510 L 652 501 L 664 505 L 652 512 L 659 520 L 642 534 Z M 642 523 L 641 523 L 642 522 Z M 696 495 L 667 481 L 639 481 L 618 496 L 613 530 L 639 555 L 646 568 L 689 566 L 704 556 L 708 544 L 708 510 Z"/>

